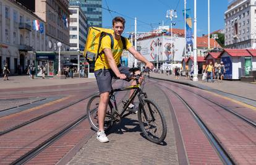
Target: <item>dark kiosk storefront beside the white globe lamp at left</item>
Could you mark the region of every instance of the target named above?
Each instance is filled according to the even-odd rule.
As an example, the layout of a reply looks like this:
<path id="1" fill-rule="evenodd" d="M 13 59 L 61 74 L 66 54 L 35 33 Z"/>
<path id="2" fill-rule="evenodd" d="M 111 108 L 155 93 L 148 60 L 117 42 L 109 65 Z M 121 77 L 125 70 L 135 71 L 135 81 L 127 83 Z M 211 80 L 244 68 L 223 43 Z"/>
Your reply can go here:
<path id="1" fill-rule="evenodd" d="M 36 53 L 36 76 L 42 76 L 42 68 L 45 70 L 46 77 L 53 77 L 56 75 L 56 54 L 53 53 Z"/>

